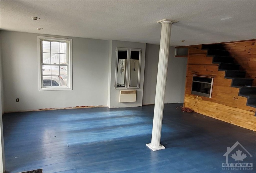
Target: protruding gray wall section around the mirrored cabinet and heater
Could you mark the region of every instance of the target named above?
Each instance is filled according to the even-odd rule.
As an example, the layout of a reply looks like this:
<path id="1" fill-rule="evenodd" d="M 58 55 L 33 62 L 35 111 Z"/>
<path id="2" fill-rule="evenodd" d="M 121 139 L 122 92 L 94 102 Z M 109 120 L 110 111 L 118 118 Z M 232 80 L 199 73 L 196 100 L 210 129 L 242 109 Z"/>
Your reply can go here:
<path id="1" fill-rule="evenodd" d="M 143 83 L 144 83 L 144 68 L 145 68 L 145 43 L 135 43 L 127 41 L 110 41 L 112 44 L 110 59 L 110 69 L 109 69 L 109 97 L 108 97 L 108 107 L 109 108 L 124 108 L 124 107 L 137 107 L 142 106 L 143 98 Z M 116 69 L 116 48 L 136 48 L 141 49 L 141 72 L 140 72 L 140 88 L 139 89 L 115 89 L 115 69 Z M 136 102 L 129 103 L 119 103 L 119 92 L 120 90 L 137 90 Z"/>

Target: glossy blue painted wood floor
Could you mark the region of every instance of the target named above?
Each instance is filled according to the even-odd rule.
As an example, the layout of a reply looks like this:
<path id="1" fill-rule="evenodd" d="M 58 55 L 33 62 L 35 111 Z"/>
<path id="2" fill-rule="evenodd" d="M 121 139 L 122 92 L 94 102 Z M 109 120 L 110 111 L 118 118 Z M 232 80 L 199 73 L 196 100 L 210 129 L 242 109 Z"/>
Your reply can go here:
<path id="1" fill-rule="evenodd" d="M 180 105 L 165 105 L 161 144 L 166 149 L 155 152 L 146 147 L 153 105 L 4 114 L 6 171 L 255 172 L 255 132 L 181 112 Z M 244 161 L 253 162 L 253 170 L 222 169 L 222 155 L 236 141 L 252 155 Z"/>

